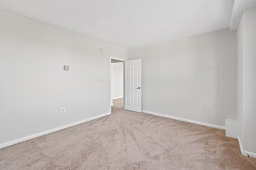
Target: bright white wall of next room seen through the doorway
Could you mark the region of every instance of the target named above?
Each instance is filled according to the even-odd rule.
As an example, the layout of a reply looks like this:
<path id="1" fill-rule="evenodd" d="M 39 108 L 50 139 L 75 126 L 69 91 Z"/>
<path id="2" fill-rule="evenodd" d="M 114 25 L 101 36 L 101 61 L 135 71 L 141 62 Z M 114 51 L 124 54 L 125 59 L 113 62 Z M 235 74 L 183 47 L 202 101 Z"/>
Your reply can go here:
<path id="1" fill-rule="evenodd" d="M 124 63 L 112 63 L 112 98 L 123 98 L 124 94 Z"/>

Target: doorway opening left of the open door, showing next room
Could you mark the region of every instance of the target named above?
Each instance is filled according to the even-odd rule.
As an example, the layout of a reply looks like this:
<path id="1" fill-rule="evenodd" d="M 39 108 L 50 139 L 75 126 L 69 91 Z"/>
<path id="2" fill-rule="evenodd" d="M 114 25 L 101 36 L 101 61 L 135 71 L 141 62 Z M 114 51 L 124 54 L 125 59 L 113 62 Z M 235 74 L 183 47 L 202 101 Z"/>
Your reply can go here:
<path id="1" fill-rule="evenodd" d="M 124 106 L 124 60 L 110 57 L 110 111 Z"/>

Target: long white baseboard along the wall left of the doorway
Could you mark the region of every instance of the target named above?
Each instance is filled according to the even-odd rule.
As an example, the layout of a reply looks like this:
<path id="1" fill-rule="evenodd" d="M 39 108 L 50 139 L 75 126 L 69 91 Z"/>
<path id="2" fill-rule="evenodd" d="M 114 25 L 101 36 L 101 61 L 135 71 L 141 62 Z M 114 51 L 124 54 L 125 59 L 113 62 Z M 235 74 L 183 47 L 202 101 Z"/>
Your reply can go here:
<path id="1" fill-rule="evenodd" d="M 94 119 L 96 119 L 96 118 L 100 118 L 100 117 L 103 117 L 103 116 L 107 116 L 107 115 L 110 115 L 110 114 L 111 114 L 111 113 L 101 114 L 101 115 L 94 116 L 94 117 L 91 117 L 91 118 L 86 118 L 85 120 L 82 120 L 82 121 L 78 121 L 78 122 L 70 123 L 70 124 L 67 124 L 67 125 L 63 125 L 63 126 L 60 126 L 60 127 L 58 127 L 58 128 L 54 128 L 54 129 L 47 130 L 47 131 L 44 131 L 44 132 L 32 134 L 32 135 L 29 135 L 29 136 L 27 136 L 27 137 L 23 137 L 23 138 L 20 138 L 20 139 L 16 139 L 16 140 L 13 140 L 13 141 L 10 141 L 10 142 L 1 143 L 1 144 L 0 144 L 0 149 L 1 149 L 1 148 L 5 148 L 5 147 L 7 147 L 7 146 L 14 145 L 14 144 L 19 143 L 19 142 L 23 142 L 23 141 L 29 140 L 29 139 L 33 139 L 33 138 L 36 138 L 36 137 L 40 137 L 40 136 L 45 135 L 45 134 L 49 134 L 49 133 L 56 132 L 56 131 L 59 131 L 59 130 L 62 130 L 62 129 L 66 129 L 66 128 L 69 128 L 69 127 L 71 127 L 71 126 L 75 126 L 75 125 L 77 125 L 77 124 L 81 124 L 81 123 L 84 123 L 84 122 L 88 122 L 88 121 L 94 120 Z"/>

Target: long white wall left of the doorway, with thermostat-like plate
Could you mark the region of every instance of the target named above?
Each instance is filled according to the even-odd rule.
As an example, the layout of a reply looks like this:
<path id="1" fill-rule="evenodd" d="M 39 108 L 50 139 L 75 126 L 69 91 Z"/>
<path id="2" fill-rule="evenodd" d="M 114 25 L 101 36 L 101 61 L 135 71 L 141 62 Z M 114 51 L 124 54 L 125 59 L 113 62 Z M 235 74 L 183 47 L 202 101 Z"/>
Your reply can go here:
<path id="1" fill-rule="evenodd" d="M 4 11 L 0 21 L 0 145 L 110 112 L 110 56 L 127 50 Z"/>

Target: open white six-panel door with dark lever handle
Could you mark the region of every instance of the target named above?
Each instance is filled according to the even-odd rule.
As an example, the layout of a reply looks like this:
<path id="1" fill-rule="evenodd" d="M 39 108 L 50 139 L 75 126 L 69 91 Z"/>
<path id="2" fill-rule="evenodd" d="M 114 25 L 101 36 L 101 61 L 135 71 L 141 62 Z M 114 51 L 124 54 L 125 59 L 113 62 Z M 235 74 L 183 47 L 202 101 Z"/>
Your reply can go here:
<path id="1" fill-rule="evenodd" d="M 141 59 L 124 62 L 124 109 L 141 113 Z"/>

